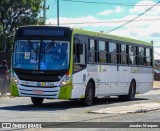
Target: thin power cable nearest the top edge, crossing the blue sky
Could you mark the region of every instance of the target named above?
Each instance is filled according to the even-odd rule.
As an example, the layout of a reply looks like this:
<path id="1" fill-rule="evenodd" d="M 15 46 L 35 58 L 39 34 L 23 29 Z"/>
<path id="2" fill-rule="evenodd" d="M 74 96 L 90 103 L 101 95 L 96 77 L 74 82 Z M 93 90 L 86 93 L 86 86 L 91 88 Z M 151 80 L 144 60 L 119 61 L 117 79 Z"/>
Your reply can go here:
<path id="1" fill-rule="evenodd" d="M 109 3 L 109 2 L 93 2 L 93 1 L 84 1 L 84 0 L 61 0 L 65 2 L 75 2 L 75 3 L 85 3 L 85 4 L 107 4 L 107 5 L 120 5 L 120 6 L 135 6 L 134 3 Z M 150 4 L 139 4 L 136 6 L 152 6 Z M 159 5 L 158 5 L 159 6 Z"/>

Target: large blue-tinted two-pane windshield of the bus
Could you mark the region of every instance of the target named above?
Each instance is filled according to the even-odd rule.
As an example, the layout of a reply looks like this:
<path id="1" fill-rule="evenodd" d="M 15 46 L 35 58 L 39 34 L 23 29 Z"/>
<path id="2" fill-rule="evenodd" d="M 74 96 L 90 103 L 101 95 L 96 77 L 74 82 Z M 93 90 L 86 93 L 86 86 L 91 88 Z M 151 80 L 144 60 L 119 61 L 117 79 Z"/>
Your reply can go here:
<path id="1" fill-rule="evenodd" d="M 29 70 L 66 70 L 69 66 L 69 42 L 53 40 L 17 40 L 13 67 Z"/>

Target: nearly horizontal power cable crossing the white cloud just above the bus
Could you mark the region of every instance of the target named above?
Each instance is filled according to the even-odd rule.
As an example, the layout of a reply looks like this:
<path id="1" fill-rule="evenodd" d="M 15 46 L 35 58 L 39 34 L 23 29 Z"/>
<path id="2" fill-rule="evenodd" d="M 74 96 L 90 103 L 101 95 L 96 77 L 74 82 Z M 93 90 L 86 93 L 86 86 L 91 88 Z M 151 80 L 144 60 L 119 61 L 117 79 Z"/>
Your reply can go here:
<path id="1" fill-rule="evenodd" d="M 141 20 L 135 20 L 135 21 L 156 21 L 156 20 L 160 20 L 160 18 L 156 18 L 156 19 L 141 19 Z M 61 25 L 74 25 L 74 24 L 101 24 L 101 23 L 120 23 L 120 22 L 128 22 L 130 20 L 119 20 L 119 21 L 98 21 L 98 22 L 78 22 L 78 23 L 61 23 Z M 55 24 L 52 24 L 55 25 Z"/>

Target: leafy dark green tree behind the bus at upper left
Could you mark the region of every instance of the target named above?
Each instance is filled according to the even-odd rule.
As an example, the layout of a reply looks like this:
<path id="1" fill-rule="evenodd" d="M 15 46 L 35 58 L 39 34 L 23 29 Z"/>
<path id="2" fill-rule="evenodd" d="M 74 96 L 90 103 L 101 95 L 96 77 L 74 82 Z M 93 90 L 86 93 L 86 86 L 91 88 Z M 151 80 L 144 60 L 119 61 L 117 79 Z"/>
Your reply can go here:
<path id="1" fill-rule="evenodd" d="M 11 47 L 17 27 L 39 23 L 40 4 L 41 0 L 0 0 L 0 50 Z"/>

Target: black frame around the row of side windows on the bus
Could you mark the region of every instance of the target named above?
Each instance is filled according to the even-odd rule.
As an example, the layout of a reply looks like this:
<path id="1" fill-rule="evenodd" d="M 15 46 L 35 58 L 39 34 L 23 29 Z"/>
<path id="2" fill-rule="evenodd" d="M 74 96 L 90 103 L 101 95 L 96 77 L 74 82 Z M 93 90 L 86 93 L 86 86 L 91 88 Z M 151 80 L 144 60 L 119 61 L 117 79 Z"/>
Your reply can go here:
<path id="1" fill-rule="evenodd" d="M 78 34 L 78 35 L 82 35 L 82 34 Z M 86 45 L 86 64 L 102 64 L 102 65 L 113 65 L 113 66 L 132 66 L 132 67 L 152 67 L 153 66 L 153 55 L 151 56 L 151 66 L 145 66 L 145 65 L 139 65 L 138 62 L 138 50 L 137 48 L 139 47 L 143 47 L 143 48 L 149 48 L 150 50 L 153 50 L 153 47 L 152 46 L 147 46 L 147 45 L 142 45 L 142 44 L 137 44 L 137 43 L 132 43 L 132 42 L 125 42 L 125 41 L 118 41 L 118 40 L 113 40 L 113 39 L 108 39 L 108 38 L 103 38 L 103 37 L 96 37 L 96 36 L 89 36 L 89 35 L 82 35 L 82 36 L 85 36 L 87 39 L 88 39 L 88 43 Z M 94 50 L 95 51 L 95 61 L 94 62 L 90 62 L 89 61 L 89 44 L 90 44 L 90 39 L 93 39 L 95 41 L 95 45 L 96 45 L 96 49 Z M 106 62 L 105 63 L 102 63 L 102 62 L 99 62 L 99 50 L 98 50 L 98 41 L 105 41 L 106 43 Z M 121 44 L 124 44 L 126 45 L 126 59 L 127 59 L 127 62 L 126 64 L 122 64 L 122 63 L 109 63 L 108 62 L 108 59 L 109 59 L 109 42 L 113 42 L 116 44 L 116 47 L 117 47 L 117 44 L 119 44 L 119 46 L 121 46 Z M 129 46 L 132 45 L 132 46 L 135 46 L 136 48 L 136 56 L 135 56 L 135 65 L 131 65 L 129 64 Z M 108 53 L 107 53 L 108 52 Z M 116 52 L 117 54 L 117 52 Z M 119 53 L 121 55 L 121 52 Z M 152 51 L 151 51 L 151 54 L 152 54 Z M 146 57 L 145 57 L 146 58 Z M 120 59 L 119 57 L 117 57 L 117 60 Z"/>

